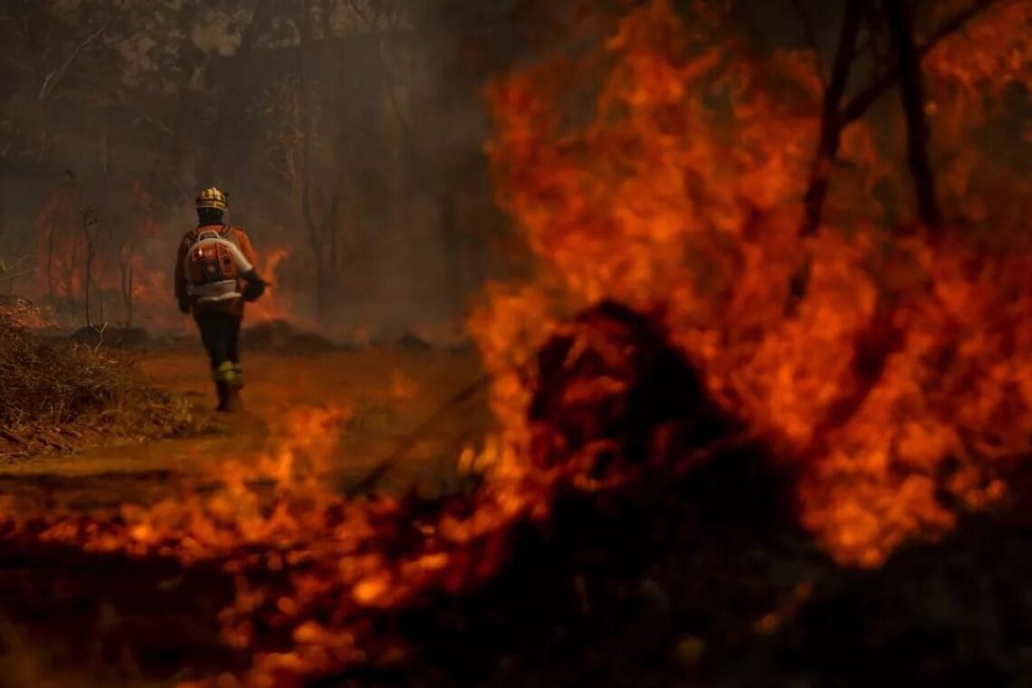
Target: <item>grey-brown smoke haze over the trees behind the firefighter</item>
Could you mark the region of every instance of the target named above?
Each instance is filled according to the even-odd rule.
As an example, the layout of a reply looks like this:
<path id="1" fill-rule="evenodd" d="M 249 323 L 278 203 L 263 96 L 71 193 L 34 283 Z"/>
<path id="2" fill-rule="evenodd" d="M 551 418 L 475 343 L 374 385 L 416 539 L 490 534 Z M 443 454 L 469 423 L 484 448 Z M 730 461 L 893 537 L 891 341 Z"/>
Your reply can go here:
<path id="1" fill-rule="evenodd" d="M 544 21 L 516 0 L 6 2 L 0 289 L 67 324 L 89 292 L 94 321 L 131 300 L 132 324 L 175 326 L 174 248 L 219 186 L 260 263 L 284 256 L 276 308 L 455 332 L 512 262 L 483 87 Z"/>

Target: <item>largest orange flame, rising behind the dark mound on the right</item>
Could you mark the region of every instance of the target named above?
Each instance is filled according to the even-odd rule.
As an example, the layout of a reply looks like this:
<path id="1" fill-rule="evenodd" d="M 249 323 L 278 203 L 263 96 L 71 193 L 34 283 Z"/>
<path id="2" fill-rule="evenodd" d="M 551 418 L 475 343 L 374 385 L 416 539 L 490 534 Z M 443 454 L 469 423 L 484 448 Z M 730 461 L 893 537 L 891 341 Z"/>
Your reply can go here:
<path id="1" fill-rule="evenodd" d="M 684 35 L 666 2 L 631 12 L 587 126 L 563 119 L 552 65 L 492 90 L 501 198 L 549 268 L 478 316 L 503 371 L 497 405 L 519 428 L 525 391 L 504 370 L 525 349 L 511 342 L 533 349 L 571 307 L 612 298 L 655 314 L 712 391 L 799 464 L 803 522 L 840 560 L 876 564 L 948 527 L 953 502 L 998 497 L 998 460 L 1030 449 L 1028 259 L 891 238 L 875 211 L 804 242 L 816 102 L 786 109 L 750 63 L 729 67 Z M 773 68 L 811 90 L 805 60 Z M 863 127 L 846 143 L 876 160 Z M 806 254 L 808 289 L 785 317 Z"/>

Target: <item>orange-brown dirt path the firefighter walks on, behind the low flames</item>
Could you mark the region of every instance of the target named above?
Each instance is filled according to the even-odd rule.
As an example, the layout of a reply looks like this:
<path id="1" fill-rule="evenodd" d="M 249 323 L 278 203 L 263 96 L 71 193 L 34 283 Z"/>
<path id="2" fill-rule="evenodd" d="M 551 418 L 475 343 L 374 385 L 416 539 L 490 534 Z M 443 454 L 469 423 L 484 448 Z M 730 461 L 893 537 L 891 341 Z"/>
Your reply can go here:
<path id="1" fill-rule="evenodd" d="M 158 387 L 191 399 L 196 413 L 209 419 L 211 432 L 19 459 L 0 465 L 0 489 L 38 493 L 40 498 L 71 491 L 83 505 L 148 502 L 165 495 L 173 483 L 211 473 L 213 465 L 257 458 L 267 449 L 270 428 L 292 409 L 305 406 L 347 409 L 334 466 L 342 487 L 347 487 L 481 374 L 472 353 L 402 348 L 314 356 L 257 353 L 246 356 L 245 364 L 245 412 L 225 416 L 212 411 L 214 391 L 199 352 L 143 353 L 140 371 Z M 421 482 L 421 489 L 440 489 L 462 444 L 476 440 L 489 420 L 482 398 L 456 409 L 429 441 L 405 457 L 385 480 L 385 488 L 405 489 Z"/>

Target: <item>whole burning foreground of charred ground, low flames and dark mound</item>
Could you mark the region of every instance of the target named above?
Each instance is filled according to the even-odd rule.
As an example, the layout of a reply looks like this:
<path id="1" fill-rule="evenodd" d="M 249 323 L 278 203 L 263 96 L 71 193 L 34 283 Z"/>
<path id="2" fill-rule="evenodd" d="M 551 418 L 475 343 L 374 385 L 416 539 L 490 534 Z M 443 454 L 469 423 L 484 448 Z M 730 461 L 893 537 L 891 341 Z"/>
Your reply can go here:
<path id="1" fill-rule="evenodd" d="M 93 665 L 93 685 L 125 673 L 256 688 L 1023 676 L 1004 655 L 1032 629 L 1004 611 L 1027 608 L 1027 532 L 969 519 L 883 570 L 839 567 L 798 522 L 793 472 L 668 335 L 615 303 L 562 325 L 522 370 L 528 462 L 488 452 L 472 495 L 341 497 L 324 478 L 348 413 L 303 409 L 256 464 L 213 466 L 214 490 L 8 515 L 18 563 L 0 559 L 0 584 L 67 571 L 52 585 L 91 600 L 102 641 L 58 654 Z M 110 576 L 127 582 L 96 601 Z M 5 607 L 43 637 L 80 627 L 40 614 L 49 590 Z"/>

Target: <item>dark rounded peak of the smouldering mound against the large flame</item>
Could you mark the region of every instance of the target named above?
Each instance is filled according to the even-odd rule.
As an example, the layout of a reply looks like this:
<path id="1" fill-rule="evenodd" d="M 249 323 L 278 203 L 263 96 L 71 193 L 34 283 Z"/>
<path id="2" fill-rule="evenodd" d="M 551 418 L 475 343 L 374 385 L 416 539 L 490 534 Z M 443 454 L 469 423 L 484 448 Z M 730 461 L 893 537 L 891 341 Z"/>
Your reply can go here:
<path id="1" fill-rule="evenodd" d="M 541 350 L 528 422 L 531 457 L 582 486 L 669 470 L 744 427 L 646 316 L 606 301 Z"/>

